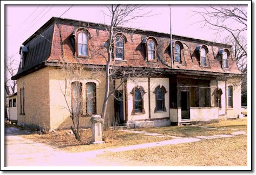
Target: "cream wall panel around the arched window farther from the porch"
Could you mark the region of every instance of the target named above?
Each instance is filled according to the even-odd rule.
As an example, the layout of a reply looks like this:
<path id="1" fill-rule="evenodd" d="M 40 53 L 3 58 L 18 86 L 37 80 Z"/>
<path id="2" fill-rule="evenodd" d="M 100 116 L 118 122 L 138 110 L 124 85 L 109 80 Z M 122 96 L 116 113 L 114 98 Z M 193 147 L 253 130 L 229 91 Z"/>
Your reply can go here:
<path id="1" fill-rule="evenodd" d="M 132 90 L 136 86 L 141 86 L 145 90 L 145 94 L 143 96 L 143 108 L 145 109 L 145 113 L 143 114 L 132 114 L 133 110 L 133 95 L 131 94 Z M 145 120 L 149 119 L 148 113 L 148 78 L 135 78 L 133 80 L 127 80 L 127 95 L 128 95 L 128 118 L 129 120 Z"/>

